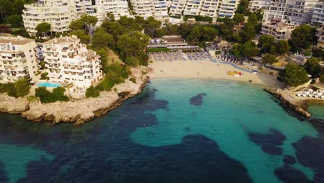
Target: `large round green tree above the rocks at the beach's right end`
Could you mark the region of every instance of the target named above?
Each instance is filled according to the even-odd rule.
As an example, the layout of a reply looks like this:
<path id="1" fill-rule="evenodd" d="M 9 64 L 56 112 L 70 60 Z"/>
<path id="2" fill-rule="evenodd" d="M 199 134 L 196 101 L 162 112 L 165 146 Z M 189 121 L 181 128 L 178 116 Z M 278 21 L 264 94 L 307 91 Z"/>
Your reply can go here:
<path id="1" fill-rule="evenodd" d="M 309 80 L 307 75 L 307 71 L 304 69 L 304 67 L 289 63 L 285 69 L 280 70 L 279 79 L 290 87 L 297 87 L 299 85 L 303 85 Z"/>

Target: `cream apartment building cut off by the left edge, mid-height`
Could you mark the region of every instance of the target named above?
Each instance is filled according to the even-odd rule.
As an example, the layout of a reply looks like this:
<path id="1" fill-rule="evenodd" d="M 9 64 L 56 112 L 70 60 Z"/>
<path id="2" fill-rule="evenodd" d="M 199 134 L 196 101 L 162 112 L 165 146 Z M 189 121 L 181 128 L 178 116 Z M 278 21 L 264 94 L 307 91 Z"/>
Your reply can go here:
<path id="1" fill-rule="evenodd" d="M 35 40 L 0 36 L 0 82 L 30 80 L 39 69 L 35 58 Z"/>

